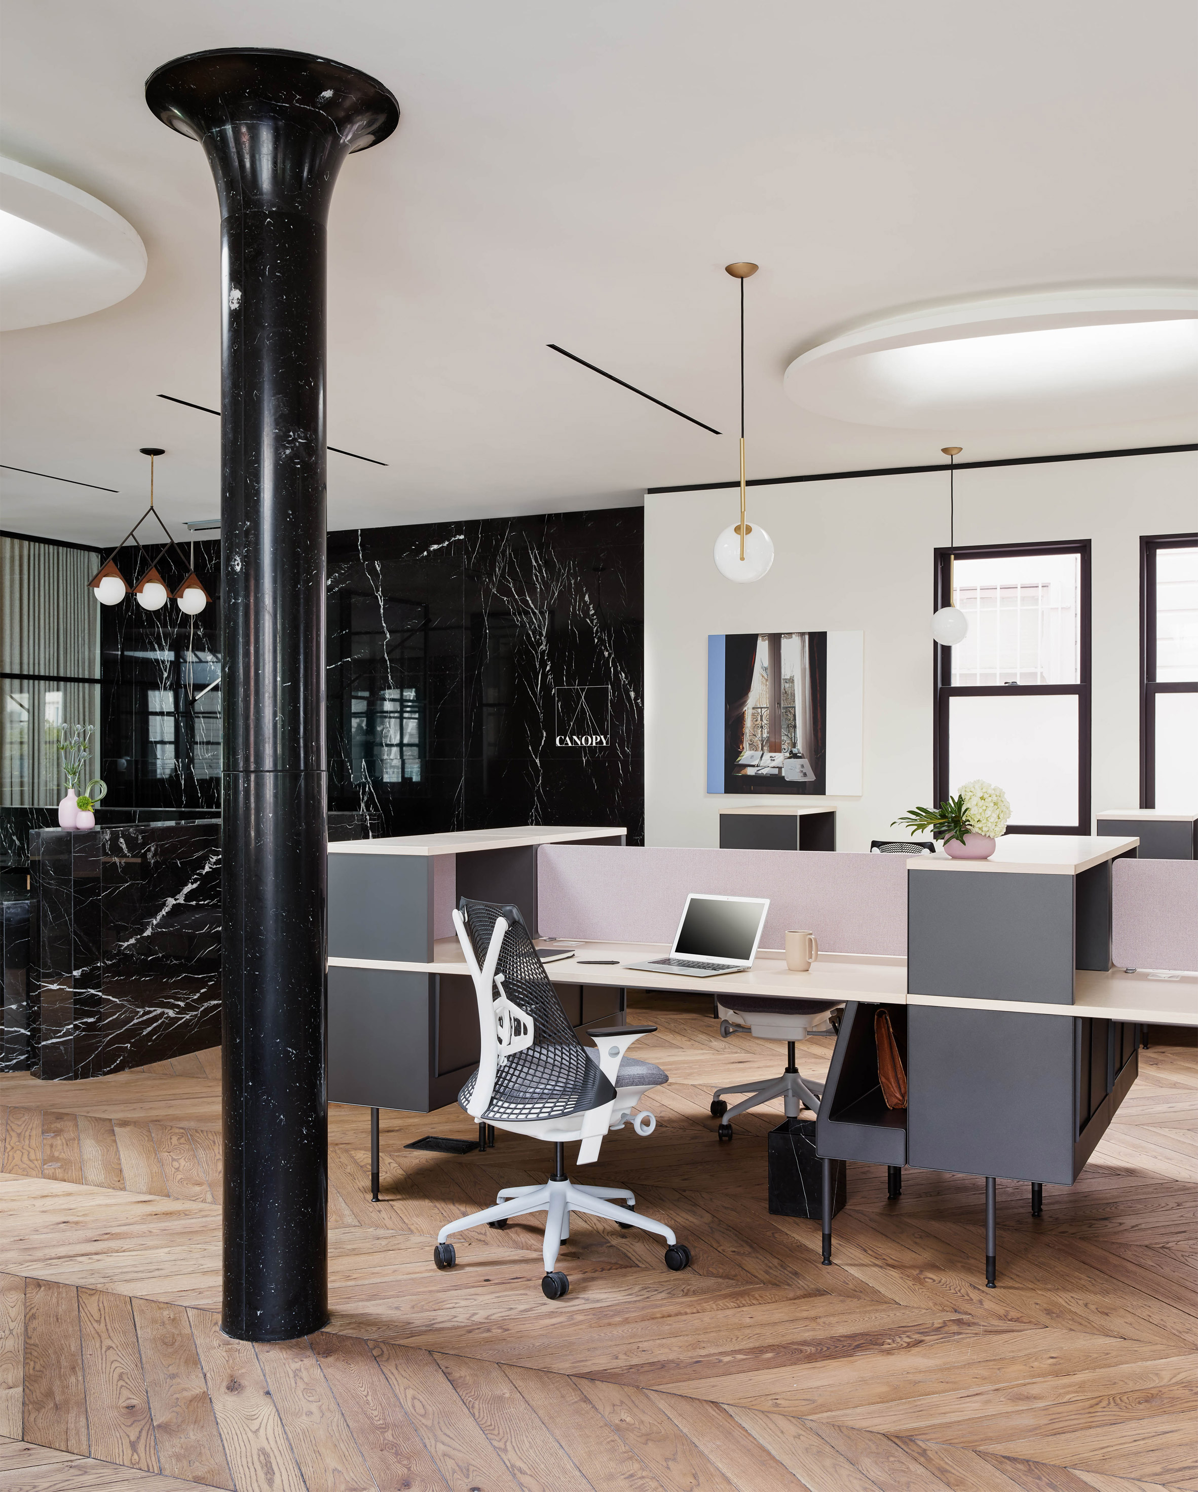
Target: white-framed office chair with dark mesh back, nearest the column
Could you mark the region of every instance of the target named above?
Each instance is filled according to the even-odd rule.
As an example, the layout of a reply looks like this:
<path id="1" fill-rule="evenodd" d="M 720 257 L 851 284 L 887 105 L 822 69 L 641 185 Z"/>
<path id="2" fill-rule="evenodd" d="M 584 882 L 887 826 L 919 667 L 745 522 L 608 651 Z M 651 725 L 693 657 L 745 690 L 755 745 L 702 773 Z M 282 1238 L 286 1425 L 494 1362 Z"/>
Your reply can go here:
<path id="1" fill-rule="evenodd" d="M 479 1067 L 458 1103 L 471 1119 L 534 1135 L 553 1146 L 553 1174 L 543 1186 L 504 1186 L 495 1206 L 448 1223 L 437 1234 L 433 1262 L 449 1270 L 457 1262 L 454 1232 L 489 1223 L 506 1228 L 509 1219 L 543 1212 L 545 1279 L 542 1291 L 559 1300 L 570 1282 L 553 1265 L 570 1237 L 570 1213 L 610 1217 L 622 1228 L 643 1228 L 665 1238 L 665 1264 L 685 1270 L 691 1250 L 665 1223 L 634 1210 L 636 1197 L 624 1186 L 577 1186 L 565 1174 L 565 1144 L 580 1140 L 579 1164 L 598 1159 L 609 1129 L 631 1119 L 637 1134 L 652 1134 L 656 1120 L 636 1106 L 650 1088 L 668 1082 L 652 1062 L 625 1056 L 637 1040 L 656 1026 L 603 1026 L 589 1031 L 598 1047 L 585 1047 L 561 1009 L 533 938 L 516 907 L 461 900 L 454 913 L 474 994 L 479 1001 Z M 616 1206 L 622 1203 L 624 1206 Z"/>

